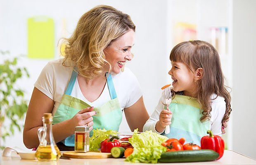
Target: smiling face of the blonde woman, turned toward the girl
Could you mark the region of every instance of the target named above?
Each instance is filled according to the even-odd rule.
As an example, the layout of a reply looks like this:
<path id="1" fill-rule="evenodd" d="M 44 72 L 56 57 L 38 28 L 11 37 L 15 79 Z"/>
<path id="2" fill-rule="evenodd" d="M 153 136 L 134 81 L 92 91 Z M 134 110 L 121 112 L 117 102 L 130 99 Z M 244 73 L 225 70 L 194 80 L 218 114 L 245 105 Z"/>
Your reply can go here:
<path id="1" fill-rule="evenodd" d="M 126 61 L 132 59 L 131 49 L 134 45 L 134 35 L 135 32 L 130 30 L 103 50 L 106 60 L 111 65 L 112 73 L 120 73 Z M 104 71 L 108 71 L 109 65 L 106 65 L 103 69 Z"/>

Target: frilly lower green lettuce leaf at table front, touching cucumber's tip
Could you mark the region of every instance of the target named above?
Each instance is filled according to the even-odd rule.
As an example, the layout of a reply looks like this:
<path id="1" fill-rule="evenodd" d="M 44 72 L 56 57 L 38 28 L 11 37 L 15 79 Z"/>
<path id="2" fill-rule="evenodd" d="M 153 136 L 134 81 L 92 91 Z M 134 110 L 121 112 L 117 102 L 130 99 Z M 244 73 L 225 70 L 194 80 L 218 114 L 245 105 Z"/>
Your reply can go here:
<path id="1" fill-rule="evenodd" d="M 166 151 L 164 146 L 149 146 L 147 148 L 134 148 L 133 153 L 126 158 L 131 163 L 157 163 L 161 154 Z"/>

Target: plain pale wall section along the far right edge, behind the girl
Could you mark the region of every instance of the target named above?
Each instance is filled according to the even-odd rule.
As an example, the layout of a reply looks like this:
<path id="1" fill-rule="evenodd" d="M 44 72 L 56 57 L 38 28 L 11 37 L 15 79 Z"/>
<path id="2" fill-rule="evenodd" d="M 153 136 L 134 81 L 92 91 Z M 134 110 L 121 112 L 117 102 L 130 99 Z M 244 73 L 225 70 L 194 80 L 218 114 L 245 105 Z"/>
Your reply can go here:
<path id="1" fill-rule="evenodd" d="M 256 159 L 256 1 L 233 1 L 233 149 Z"/>

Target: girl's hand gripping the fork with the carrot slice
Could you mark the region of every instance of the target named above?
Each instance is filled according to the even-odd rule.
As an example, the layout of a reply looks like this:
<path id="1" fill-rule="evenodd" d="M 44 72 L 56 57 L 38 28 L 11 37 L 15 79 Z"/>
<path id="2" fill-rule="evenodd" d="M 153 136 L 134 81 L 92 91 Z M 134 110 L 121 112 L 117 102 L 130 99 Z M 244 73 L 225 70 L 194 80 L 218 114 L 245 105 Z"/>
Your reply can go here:
<path id="1" fill-rule="evenodd" d="M 163 132 L 165 126 L 171 124 L 172 112 L 168 110 L 162 110 L 159 115 L 159 121 L 156 123 L 156 131 Z"/>

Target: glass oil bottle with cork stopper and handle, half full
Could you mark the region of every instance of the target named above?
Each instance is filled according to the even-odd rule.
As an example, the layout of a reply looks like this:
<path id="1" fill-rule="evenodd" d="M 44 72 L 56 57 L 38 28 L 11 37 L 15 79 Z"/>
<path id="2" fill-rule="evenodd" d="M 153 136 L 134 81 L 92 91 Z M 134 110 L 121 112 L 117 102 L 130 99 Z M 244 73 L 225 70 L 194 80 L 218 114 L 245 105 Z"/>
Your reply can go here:
<path id="1" fill-rule="evenodd" d="M 38 138 L 40 144 L 36 149 L 36 158 L 40 161 L 58 160 L 61 153 L 52 134 L 52 113 L 44 113 L 43 127 L 38 129 Z"/>

